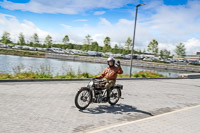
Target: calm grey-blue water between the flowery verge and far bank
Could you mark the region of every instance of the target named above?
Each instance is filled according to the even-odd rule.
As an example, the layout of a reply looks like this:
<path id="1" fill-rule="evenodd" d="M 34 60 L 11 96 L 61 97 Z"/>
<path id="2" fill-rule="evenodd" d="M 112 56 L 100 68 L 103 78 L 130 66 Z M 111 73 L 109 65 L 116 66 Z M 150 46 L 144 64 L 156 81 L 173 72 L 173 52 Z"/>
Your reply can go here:
<path id="1" fill-rule="evenodd" d="M 75 61 L 63 61 L 57 59 L 48 58 L 32 58 L 32 57 L 20 57 L 11 55 L 0 55 L 0 71 L 4 73 L 13 74 L 16 71 L 17 66 L 22 68 L 22 71 L 32 70 L 33 72 L 47 70 L 50 71 L 54 76 L 56 74 L 66 74 L 69 71 L 74 73 L 78 72 L 88 72 L 90 74 L 102 73 L 107 64 L 97 64 L 88 62 L 75 62 Z M 130 67 L 122 66 L 124 74 L 129 74 Z M 139 72 L 144 70 L 151 70 L 148 68 L 132 68 L 132 72 Z M 168 77 L 177 77 L 180 73 L 184 72 L 174 72 L 166 70 L 153 70 L 161 73 Z"/>

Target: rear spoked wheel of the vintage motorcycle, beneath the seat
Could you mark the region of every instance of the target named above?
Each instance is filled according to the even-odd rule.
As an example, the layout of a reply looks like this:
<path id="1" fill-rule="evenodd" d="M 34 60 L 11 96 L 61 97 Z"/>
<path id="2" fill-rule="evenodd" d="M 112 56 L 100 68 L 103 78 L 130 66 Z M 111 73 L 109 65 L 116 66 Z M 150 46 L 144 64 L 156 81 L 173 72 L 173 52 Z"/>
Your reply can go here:
<path id="1" fill-rule="evenodd" d="M 121 90 L 119 90 L 118 88 L 111 89 L 111 91 L 110 91 L 110 99 L 108 101 L 109 104 L 115 105 L 119 101 L 120 91 Z"/>

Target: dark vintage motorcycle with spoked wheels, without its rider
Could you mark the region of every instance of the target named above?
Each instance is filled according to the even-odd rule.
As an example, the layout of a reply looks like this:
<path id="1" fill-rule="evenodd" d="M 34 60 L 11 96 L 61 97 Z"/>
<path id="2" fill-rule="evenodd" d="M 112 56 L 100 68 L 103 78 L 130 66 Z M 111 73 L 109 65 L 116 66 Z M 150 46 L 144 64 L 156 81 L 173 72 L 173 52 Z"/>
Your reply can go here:
<path id="1" fill-rule="evenodd" d="M 90 103 L 109 103 L 115 105 L 121 98 L 123 85 L 115 84 L 109 91 L 105 89 L 107 81 L 91 79 L 87 87 L 81 87 L 75 96 L 78 109 L 86 109 Z"/>

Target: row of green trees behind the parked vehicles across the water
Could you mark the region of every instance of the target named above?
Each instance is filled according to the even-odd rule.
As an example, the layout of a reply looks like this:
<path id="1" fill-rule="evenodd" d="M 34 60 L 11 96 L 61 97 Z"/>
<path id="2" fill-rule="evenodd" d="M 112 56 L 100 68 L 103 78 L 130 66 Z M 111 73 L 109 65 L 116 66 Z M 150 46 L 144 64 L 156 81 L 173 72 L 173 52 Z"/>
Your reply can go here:
<path id="1" fill-rule="evenodd" d="M 70 38 L 68 35 L 65 35 L 62 39 L 62 44 L 55 44 L 53 43 L 53 39 L 50 35 L 47 35 L 45 37 L 45 40 L 43 43 L 40 42 L 39 36 L 37 33 L 34 33 L 33 36 L 31 36 L 31 39 L 28 41 L 25 41 L 25 36 L 23 33 L 19 34 L 18 42 L 13 43 L 10 38 L 10 33 L 4 32 L 0 42 L 4 44 L 17 44 L 17 45 L 27 45 L 31 47 L 42 47 L 42 48 L 62 48 L 62 49 L 77 49 L 77 50 L 83 50 L 83 51 L 97 51 L 97 52 L 112 52 L 113 54 L 130 54 L 131 53 L 131 45 L 132 40 L 130 37 L 128 37 L 127 41 L 125 42 L 124 46 L 120 46 L 118 44 L 115 44 L 114 47 L 111 47 L 111 38 L 105 37 L 104 39 L 104 46 L 99 46 L 98 42 L 93 41 L 92 37 L 88 34 L 85 36 L 83 45 L 80 44 L 72 44 L 70 43 Z M 147 51 L 152 53 L 155 56 L 161 56 L 162 58 L 169 58 L 171 57 L 171 52 L 167 49 L 162 49 L 159 51 L 158 48 L 158 42 L 153 39 L 147 46 Z M 141 50 L 134 50 L 134 54 L 147 54 L 147 52 L 141 51 Z M 178 57 L 184 57 L 186 55 L 186 49 L 185 45 L 183 43 L 180 43 L 176 46 L 175 54 Z"/>

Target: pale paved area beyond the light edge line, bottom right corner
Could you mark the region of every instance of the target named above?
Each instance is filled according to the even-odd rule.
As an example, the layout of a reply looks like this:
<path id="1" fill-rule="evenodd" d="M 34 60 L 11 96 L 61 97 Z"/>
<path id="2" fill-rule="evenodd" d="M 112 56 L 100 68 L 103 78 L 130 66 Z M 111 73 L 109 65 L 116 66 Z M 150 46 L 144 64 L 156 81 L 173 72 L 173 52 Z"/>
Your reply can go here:
<path id="1" fill-rule="evenodd" d="M 199 133 L 200 105 L 146 119 L 109 125 L 89 133 Z"/>

